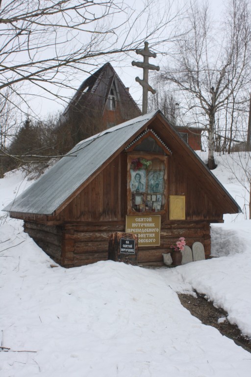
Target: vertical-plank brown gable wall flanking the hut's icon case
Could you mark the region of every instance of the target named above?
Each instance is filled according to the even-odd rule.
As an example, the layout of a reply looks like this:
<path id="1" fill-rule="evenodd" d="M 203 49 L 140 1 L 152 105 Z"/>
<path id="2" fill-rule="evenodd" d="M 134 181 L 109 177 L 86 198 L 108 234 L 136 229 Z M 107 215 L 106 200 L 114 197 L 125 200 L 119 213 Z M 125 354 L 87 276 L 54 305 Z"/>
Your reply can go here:
<path id="1" fill-rule="evenodd" d="M 195 174 L 186 169 L 178 155 L 168 157 L 167 195 L 185 195 L 186 220 L 222 221 L 221 206 L 198 183 Z M 68 206 L 50 220 L 57 223 L 79 221 L 125 221 L 126 153 L 111 161 Z M 168 214 L 162 220 L 169 220 Z"/>

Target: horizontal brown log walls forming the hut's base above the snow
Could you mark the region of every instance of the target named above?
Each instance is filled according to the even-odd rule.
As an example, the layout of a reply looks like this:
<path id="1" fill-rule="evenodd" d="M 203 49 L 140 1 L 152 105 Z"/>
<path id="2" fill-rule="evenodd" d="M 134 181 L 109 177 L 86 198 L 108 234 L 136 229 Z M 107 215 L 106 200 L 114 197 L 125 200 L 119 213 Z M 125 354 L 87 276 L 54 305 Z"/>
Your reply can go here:
<path id="1" fill-rule="evenodd" d="M 64 267 L 77 267 L 105 261 L 108 257 L 108 241 L 111 233 L 124 232 L 125 224 L 86 224 L 46 226 L 25 222 L 25 232 Z M 179 237 L 185 237 L 187 245 L 201 242 L 206 257 L 210 255 L 210 225 L 208 223 L 163 223 L 160 245 L 139 247 L 138 263 L 142 266 L 162 266 L 162 253 L 170 252 L 170 245 Z"/>

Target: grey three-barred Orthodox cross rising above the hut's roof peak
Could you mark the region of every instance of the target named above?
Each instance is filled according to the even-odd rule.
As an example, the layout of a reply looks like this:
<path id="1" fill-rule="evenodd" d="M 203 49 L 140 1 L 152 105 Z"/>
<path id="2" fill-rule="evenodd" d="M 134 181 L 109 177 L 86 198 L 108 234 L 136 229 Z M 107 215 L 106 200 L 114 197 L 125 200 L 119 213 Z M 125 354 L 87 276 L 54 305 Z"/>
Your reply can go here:
<path id="1" fill-rule="evenodd" d="M 143 87 L 143 99 L 142 99 L 142 114 L 147 114 L 148 112 L 148 92 L 150 91 L 152 94 L 156 93 L 156 90 L 154 90 L 148 83 L 148 71 L 156 70 L 159 71 L 159 66 L 149 64 L 149 58 L 150 57 L 156 57 L 157 55 L 155 53 L 151 53 L 151 51 L 148 48 L 148 42 L 145 42 L 145 47 L 143 50 L 136 50 L 136 54 L 144 56 L 144 62 L 141 63 L 140 61 L 132 61 L 132 65 L 143 68 L 143 80 L 141 80 L 139 77 L 136 77 L 135 81 L 139 82 L 139 84 Z"/>

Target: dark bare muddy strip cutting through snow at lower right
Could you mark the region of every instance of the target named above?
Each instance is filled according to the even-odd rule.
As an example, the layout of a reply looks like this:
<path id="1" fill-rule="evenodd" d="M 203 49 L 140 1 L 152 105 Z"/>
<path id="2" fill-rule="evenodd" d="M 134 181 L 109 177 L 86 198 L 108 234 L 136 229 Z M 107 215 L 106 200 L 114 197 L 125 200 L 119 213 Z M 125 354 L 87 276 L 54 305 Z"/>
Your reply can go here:
<path id="1" fill-rule="evenodd" d="M 197 294 L 197 298 L 178 294 L 181 304 L 190 313 L 199 318 L 202 323 L 216 327 L 222 335 L 232 339 L 238 346 L 251 352 L 251 338 L 245 337 L 236 325 L 230 324 L 223 309 L 217 309 L 212 302 L 208 302 L 204 296 Z M 220 319 L 220 321 L 218 321 Z M 225 319 L 225 320 L 224 320 Z"/>

